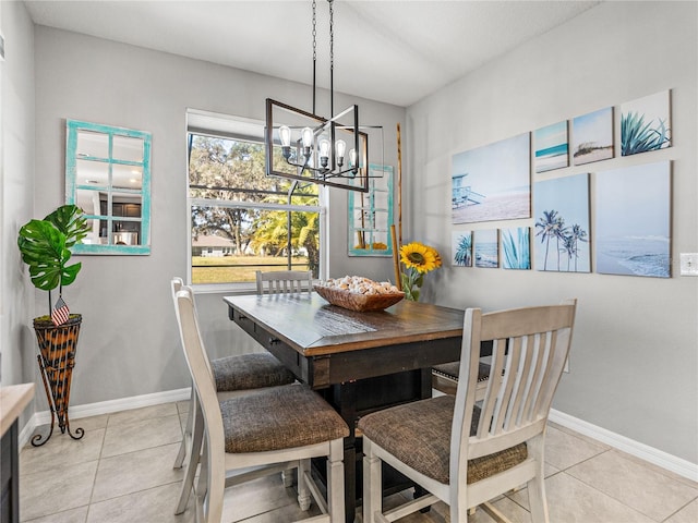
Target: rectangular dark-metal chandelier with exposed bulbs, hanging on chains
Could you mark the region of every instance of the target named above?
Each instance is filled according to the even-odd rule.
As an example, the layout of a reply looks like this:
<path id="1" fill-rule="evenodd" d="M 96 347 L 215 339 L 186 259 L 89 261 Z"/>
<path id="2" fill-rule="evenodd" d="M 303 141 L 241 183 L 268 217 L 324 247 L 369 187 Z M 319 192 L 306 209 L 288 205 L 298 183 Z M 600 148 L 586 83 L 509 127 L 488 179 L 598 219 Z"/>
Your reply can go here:
<path id="1" fill-rule="evenodd" d="M 334 0 L 329 4 L 329 113 L 334 114 Z M 369 192 L 369 130 L 359 125 L 359 107 L 332 118 L 316 114 L 316 0 L 313 0 L 313 109 L 266 99 L 266 174 Z M 377 170 L 382 172 L 382 170 Z"/>

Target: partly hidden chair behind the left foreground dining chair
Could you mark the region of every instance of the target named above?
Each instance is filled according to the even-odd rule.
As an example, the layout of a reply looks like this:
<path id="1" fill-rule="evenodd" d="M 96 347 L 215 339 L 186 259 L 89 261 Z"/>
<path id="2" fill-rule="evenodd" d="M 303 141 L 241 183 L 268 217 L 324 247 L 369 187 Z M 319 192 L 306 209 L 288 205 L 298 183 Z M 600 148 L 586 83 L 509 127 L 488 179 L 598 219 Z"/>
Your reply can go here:
<path id="1" fill-rule="evenodd" d="M 183 287 L 184 282 L 181 278 L 172 278 L 170 282 L 172 300 Z M 214 375 L 216 391 L 220 399 L 250 393 L 266 387 L 288 385 L 296 380 L 293 374 L 268 352 L 225 356 L 210 361 L 206 356 L 206 361 Z M 189 402 L 184 435 L 173 465 L 174 469 L 181 469 L 184 465 L 184 459 L 188 458 L 180 496 L 174 509 L 176 514 L 181 514 L 186 509 L 201 457 L 201 431 L 198 437 L 194 438 L 193 429 L 196 416 L 200 413 L 197 413 L 196 403 L 193 399 L 194 387 L 192 387 L 192 396 Z M 285 485 L 287 487 L 291 486 L 292 474 L 285 473 L 282 476 Z"/>

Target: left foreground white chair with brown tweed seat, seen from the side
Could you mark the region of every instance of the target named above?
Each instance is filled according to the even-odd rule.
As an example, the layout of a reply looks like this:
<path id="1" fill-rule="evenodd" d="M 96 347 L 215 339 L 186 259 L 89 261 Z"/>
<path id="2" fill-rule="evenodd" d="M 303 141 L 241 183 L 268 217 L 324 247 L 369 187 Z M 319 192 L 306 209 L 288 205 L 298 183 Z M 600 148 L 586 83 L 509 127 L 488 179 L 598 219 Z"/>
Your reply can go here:
<path id="1" fill-rule="evenodd" d="M 311 497 L 322 516 L 313 522 L 344 523 L 344 438 L 349 427 L 306 385 L 292 384 L 220 401 L 201 338 L 193 294 L 176 295 L 177 321 L 192 375 L 194 402 L 202 414 L 202 466 L 195 486 L 197 522 L 219 523 L 225 488 L 290 467 L 298 467 L 298 501 L 308 510 Z M 327 459 L 327 495 L 311 476 L 310 460 Z"/>

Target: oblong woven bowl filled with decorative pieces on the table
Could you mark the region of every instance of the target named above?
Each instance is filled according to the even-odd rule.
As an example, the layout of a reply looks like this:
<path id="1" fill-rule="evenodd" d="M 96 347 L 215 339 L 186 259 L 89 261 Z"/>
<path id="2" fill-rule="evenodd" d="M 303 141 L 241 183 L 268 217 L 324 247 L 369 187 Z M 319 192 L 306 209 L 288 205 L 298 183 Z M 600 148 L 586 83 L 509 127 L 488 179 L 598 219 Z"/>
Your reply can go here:
<path id="1" fill-rule="evenodd" d="M 313 288 L 333 305 L 360 313 L 383 311 L 405 297 L 405 293 L 389 282 L 377 282 L 360 276 L 329 279 Z"/>

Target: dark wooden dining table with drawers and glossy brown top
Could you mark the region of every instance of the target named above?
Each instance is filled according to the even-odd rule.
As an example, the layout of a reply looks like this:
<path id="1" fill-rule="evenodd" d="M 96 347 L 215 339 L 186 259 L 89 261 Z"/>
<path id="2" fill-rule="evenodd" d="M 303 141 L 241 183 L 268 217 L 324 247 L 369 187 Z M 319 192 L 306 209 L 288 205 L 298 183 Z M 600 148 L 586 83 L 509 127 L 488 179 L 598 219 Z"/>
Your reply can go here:
<path id="1" fill-rule="evenodd" d="M 404 300 L 385 311 L 354 312 L 314 292 L 224 301 L 232 321 L 317 390 L 349 425 L 345 502 L 347 522 L 353 521 L 361 497 L 358 419 L 431 397 L 431 367 L 460 358 L 464 311 Z M 385 479 L 386 494 L 390 483 L 395 491 L 400 488 L 389 473 Z"/>

